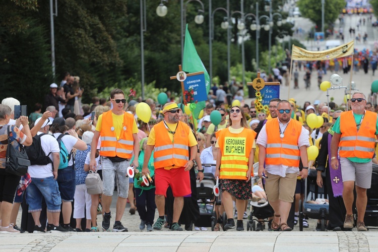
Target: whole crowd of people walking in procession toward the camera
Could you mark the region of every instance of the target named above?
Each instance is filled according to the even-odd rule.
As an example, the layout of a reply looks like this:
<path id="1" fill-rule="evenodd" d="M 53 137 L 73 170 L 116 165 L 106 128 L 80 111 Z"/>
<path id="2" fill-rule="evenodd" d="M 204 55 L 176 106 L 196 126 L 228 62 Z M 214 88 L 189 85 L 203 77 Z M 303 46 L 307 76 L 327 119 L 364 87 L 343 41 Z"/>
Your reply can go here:
<path id="1" fill-rule="evenodd" d="M 152 111 L 149 122 L 136 114 L 141 100 L 128 100 L 121 89 L 112 90 L 108 98 L 93 97 L 92 104 L 81 104 L 84 90 L 79 80 L 65 73 L 60 86 L 51 84 L 45 103 L 36 104 L 29 117 L 15 119 L 14 107 L 20 102 L 12 97 L 3 99 L 0 233 L 96 232 L 100 225 L 103 230 L 125 232 L 128 228 L 121 219 L 128 202 L 130 214 L 138 212 L 140 230 L 207 230 L 195 226 L 200 218 L 196 180 L 201 181 L 204 172 L 220 179 L 222 204 L 216 208 L 214 230 L 244 230 L 250 200 L 269 202 L 273 208 L 268 230 L 291 231 L 298 223 L 298 200 L 303 199 L 308 169 L 317 169 L 318 185 L 327 188 L 332 216 L 327 228 L 353 228 L 355 187 L 357 230 L 367 230 L 366 189 L 371 183 L 371 163 L 378 163 L 374 155 L 378 132 L 376 110 L 364 94 L 356 92 L 340 106 L 319 100 L 300 106 L 295 99 L 274 98 L 268 109 L 259 111 L 256 101 L 244 104 L 241 99 L 241 105 L 231 105 L 232 100 L 244 96 L 233 80 L 229 86 L 212 87 L 215 95 L 206 102 L 195 129 L 173 97 L 168 97 L 166 104 L 151 98 L 145 101 Z M 218 124 L 212 123 L 214 110 L 221 115 Z M 321 127 L 308 127 L 306 118 L 311 113 L 323 117 Z M 24 176 L 5 169 L 9 141 L 15 147 L 41 149 L 42 155 Z M 307 148 L 311 145 L 317 146 L 320 154 L 309 165 Z M 254 170 L 255 163 L 259 165 Z M 134 167 L 134 178 L 128 176 L 129 166 Z M 324 170 L 325 178 L 321 176 Z M 100 175 L 102 194 L 88 194 L 85 180 L 90 171 Z M 343 181 L 337 187 L 332 182 L 335 172 Z M 258 183 L 251 179 L 256 176 L 261 178 Z M 115 189 L 112 223 L 110 205 Z M 21 205 L 23 216 L 17 226 Z M 220 221 L 223 212 L 225 225 Z M 101 224 L 97 223 L 99 213 Z M 302 221 L 303 227 L 308 227 L 306 219 Z M 257 230 L 264 229 L 265 221 L 259 220 Z"/>

